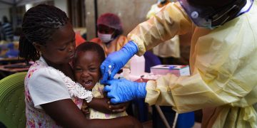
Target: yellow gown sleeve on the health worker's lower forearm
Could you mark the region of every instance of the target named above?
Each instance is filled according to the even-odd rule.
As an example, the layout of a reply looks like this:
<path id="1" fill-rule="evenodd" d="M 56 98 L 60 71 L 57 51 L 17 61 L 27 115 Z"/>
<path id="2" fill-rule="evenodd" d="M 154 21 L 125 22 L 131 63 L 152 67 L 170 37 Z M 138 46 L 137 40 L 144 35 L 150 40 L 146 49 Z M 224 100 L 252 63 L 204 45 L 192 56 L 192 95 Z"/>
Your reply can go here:
<path id="1" fill-rule="evenodd" d="M 146 90 L 146 102 L 149 105 L 173 106 L 173 110 L 178 113 L 216 107 L 229 102 L 224 100 L 226 97 L 219 97 L 218 93 L 208 87 L 199 73 L 190 77 L 165 75 L 156 81 L 148 81 Z M 228 100 L 232 100 L 227 96 Z M 233 101 L 236 99 L 233 98 Z"/>

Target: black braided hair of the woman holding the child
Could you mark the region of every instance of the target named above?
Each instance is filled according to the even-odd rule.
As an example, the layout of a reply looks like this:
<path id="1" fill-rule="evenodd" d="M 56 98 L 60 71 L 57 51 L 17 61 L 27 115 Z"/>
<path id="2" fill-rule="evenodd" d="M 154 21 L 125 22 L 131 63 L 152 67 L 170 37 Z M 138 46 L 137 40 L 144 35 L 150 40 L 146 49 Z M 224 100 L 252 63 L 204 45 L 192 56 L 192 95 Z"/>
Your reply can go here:
<path id="1" fill-rule="evenodd" d="M 39 4 L 29 9 L 23 18 L 19 57 L 24 58 L 27 63 L 29 60 L 38 60 L 39 51 L 32 43 L 45 45 L 54 38 L 53 33 L 68 21 L 65 12 L 55 6 Z"/>

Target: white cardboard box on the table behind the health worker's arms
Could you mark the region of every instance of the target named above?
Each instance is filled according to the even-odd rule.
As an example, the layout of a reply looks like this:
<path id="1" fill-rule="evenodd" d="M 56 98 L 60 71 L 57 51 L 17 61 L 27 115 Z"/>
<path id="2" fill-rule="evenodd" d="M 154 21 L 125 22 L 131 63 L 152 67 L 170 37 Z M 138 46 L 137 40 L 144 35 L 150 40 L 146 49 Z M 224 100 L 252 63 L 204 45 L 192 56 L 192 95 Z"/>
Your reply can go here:
<path id="1" fill-rule="evenodd" d="M 151 73 L 158 75 L 166 75 L 167 73 L 176 76 L 190 75 L 188 65 L 156 65 L 151 67 Z"/>

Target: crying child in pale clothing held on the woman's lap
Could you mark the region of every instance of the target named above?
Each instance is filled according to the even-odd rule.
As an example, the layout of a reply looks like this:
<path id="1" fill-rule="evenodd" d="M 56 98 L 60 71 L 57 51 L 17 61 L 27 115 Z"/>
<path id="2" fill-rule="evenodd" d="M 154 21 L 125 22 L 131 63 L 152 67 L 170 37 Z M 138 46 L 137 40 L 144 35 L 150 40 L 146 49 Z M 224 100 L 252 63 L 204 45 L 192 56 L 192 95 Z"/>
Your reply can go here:
<path id="1" fill-rule="evenodd" d="M 81 43 L 76 48 L 73 61 L 76 82 L 79 82 L 86 90 L 91 90 L 93 97 L 97 98 L 106 97 L 104 94 L 104 85 L 101 85 L 99 82 L 101 78 L 100 65 L 104 59 L 105 54 L 101 46 L 96 43 L 86 42 Z M 111 119 L 128 115 L 125 111 L 115 114 L 105 114 L 88 108 L 86 102 L 84 102 L 82 108 L 84 113 L 88 114 L 89 112 L 89 119 Z"/>

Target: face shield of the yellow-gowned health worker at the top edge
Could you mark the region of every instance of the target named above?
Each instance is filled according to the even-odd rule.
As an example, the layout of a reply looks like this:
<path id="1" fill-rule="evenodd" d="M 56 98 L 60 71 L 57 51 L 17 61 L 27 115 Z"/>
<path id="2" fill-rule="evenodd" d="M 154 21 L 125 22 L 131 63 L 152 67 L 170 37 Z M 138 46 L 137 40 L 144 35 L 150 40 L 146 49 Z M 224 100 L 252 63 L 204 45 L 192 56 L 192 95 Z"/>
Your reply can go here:
<path id="1" fill-rule="evenodd" d="M 196 26 L 216 28 L 235 18 L 246 4 L 246 0 L 236 0 L 226 6 L 214 9 L 212 6 L 198 6 L 188 3 L 187 0 L 178 0 L 186 14 Z"/>

